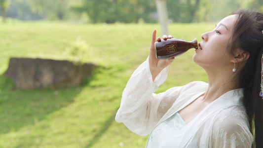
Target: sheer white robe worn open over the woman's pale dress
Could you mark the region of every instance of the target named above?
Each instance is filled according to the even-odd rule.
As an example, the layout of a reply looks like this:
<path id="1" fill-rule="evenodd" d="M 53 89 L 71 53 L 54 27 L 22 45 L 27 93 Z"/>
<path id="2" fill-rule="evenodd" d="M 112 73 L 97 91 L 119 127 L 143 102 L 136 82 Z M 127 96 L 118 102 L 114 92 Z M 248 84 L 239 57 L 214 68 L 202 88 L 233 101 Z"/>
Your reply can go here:
<path id="1" fill-rule="evenodd" d="M 208 87 L 205 82 L 194 81 L 154 94 L 167 73 L 168 67 L 153 82 L 149 59 L 140 65 L 122 93 L 115 120 L 138 135 L 149 135 L 161 122 L 204 94 Z M 253 136 L 243 107 L 243 89 L 225 93 L 178 134 L 167 134 L 167 139 L 161 148 L 251 148 Z"/>

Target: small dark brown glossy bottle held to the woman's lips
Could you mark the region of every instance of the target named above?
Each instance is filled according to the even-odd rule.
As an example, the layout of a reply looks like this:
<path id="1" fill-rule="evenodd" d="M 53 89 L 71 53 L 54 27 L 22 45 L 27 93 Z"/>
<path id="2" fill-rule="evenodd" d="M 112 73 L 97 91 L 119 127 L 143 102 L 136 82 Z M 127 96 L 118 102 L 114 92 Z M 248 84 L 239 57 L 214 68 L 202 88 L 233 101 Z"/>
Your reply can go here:
<path id="1" fill-rule="evenodd" d="M 191 48 L 199 48 L 197 39 L 187 41 L 180 38 L 168 38 L 167 40 L 156 41 L 155 54 L 158 59 L 170 59 L 187 52 Z"/>

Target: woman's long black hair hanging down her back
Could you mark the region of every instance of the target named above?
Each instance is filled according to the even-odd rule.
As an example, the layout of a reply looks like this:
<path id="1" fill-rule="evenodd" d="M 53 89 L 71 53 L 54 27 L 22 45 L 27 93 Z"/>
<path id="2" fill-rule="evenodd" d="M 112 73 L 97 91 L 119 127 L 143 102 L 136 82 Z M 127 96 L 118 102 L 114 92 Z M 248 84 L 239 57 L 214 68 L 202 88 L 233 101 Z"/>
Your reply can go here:
<path id="1" fill-rule="evenodd" d="M 244 106 L 246 108 L 250 131 L 254 137 L 253 148 L 263 146 L 263 99 L 260 96 L 262 79 L 263 54 L 263 13 L 239 9 L 231 41 L 229 53 L 237 50 L 249 53 L 244 67 L 239 71 L 239 85 L 244 88 Z"/>

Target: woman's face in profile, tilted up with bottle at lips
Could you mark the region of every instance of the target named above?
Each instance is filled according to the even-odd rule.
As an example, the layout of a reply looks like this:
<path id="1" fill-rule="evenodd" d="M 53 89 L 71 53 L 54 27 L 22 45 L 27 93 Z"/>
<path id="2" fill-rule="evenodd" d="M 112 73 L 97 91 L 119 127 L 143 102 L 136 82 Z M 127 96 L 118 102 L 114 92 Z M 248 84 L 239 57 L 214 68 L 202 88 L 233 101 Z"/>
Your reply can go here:
<path id="1" fill-rule="evenodd" d="M 233 63 L 226 50 L 228 40 L 232 35 L 233 25 L 236 15 L 230 15 L 221 20 L 216 28 L 210 32 L 202 34 L 202 41 L 199 43 L 200 49 L 195 50 L 193 61 L 204 68 L 219 70 L 222 68 L 233 69 Z"/>

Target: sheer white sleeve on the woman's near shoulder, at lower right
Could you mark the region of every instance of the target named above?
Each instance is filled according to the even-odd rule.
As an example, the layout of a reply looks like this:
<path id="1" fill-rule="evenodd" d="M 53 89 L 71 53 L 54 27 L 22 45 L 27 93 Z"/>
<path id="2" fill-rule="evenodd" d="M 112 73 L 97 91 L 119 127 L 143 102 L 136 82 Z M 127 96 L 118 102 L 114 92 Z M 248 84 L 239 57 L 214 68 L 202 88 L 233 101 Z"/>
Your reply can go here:
<path id="1" fill-rule="evenodd" d="M 224 111 L 213 126 L 212 148 L 251 148 L 253 136 L 247 121 L 244 107 Z"/>

